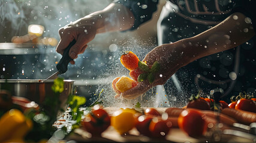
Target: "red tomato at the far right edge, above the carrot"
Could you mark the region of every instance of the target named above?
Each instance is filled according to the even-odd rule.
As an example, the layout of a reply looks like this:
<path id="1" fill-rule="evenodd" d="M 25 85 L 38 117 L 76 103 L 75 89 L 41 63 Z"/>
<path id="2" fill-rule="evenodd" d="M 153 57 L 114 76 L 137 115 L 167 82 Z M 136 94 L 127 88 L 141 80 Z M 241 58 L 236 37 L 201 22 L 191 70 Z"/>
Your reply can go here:
<path id="1" fill-rule="evenodd" d="M 242 98 L 237 101 L 235 109 L 245 110 L 245 111 L 251 111 L 256 113 L 256 103 L 253 100 L 249 100 L 246 98 Z"/>

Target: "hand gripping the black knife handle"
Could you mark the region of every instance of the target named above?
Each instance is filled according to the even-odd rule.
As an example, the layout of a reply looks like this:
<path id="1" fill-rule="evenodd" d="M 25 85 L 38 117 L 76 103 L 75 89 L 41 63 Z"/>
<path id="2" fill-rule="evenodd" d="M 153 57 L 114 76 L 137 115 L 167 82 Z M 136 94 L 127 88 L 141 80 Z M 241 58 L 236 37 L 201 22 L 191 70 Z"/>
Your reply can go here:
<path id="1" fill-rule="evenodd" d="M 64 49 L 73 41 L 76 40 L 76 43 L 70 48 L 70 58 L 77 58 L 78 54 L 85 52 L 87 43 L 94 39 L 97 32 L 97 23 L 91 18 L 80 18 L 77 21 L 74 21 L 67 26 L 59 29 L 59 36 L 61 36 L 61 41 L 56 47 L 56 51 L 60 54 L 63 54 Z M 71 64 L 75 62 L 70 61 Z"/>

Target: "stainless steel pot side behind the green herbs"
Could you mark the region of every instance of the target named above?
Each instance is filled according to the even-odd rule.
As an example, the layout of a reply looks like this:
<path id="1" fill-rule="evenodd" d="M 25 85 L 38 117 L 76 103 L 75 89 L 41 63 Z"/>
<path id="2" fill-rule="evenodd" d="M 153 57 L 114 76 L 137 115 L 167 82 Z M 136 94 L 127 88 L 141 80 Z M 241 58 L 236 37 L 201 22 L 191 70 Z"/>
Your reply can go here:
<path id="1" fill-rule="evenodd" d="M 41 82 L 38 79 L 0 79 L 0 90 L 7 89 L 11 95 L 17 97 L 25 97 L 31 101 L 37 102 L 39 105 L 44 105 L 46 97 L 53 97 L 55 94 L 52 91 L 54 80 L 46 80 Z M 73 94 L 73 80 L 64 80 L 64 91 L 59 95 L 60 108 L 67 108 L 68 96 Z"/>

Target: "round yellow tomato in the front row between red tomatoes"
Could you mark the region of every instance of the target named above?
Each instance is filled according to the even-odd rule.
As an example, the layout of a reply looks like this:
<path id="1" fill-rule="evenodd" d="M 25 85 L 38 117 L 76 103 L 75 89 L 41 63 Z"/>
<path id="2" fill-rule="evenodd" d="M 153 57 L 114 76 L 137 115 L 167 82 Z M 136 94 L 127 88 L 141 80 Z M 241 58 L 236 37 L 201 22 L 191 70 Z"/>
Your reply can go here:
<path id="1" fill-rule="evenodd" d="M 136 116 L 131 109 L 123 109 L 116 111 L 111 117 L 111 125 L 121 135 L 127 133 L 135 127 Z"/>

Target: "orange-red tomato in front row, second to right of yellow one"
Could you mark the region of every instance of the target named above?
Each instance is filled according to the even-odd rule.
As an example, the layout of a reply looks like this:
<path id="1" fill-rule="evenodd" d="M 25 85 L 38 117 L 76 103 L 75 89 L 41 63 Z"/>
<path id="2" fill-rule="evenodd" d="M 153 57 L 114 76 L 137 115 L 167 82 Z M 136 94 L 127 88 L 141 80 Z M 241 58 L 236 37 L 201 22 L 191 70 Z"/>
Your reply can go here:
<path id="1" fill-rule="evenodd" d="M 151 136 L 154 138 L 164 138 L 171 128 L 171 122 L 153 118 L 149 125 Z"/>

